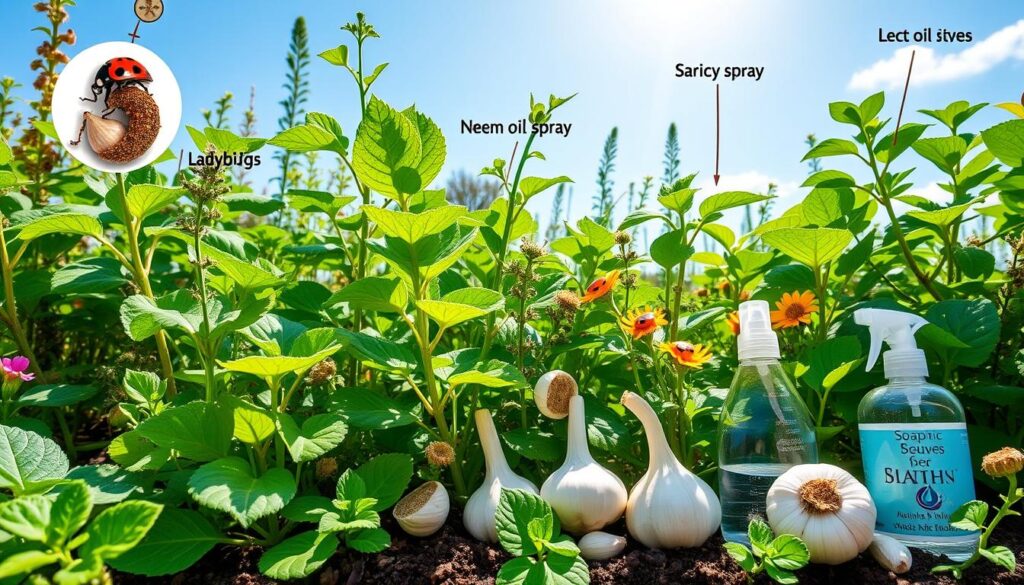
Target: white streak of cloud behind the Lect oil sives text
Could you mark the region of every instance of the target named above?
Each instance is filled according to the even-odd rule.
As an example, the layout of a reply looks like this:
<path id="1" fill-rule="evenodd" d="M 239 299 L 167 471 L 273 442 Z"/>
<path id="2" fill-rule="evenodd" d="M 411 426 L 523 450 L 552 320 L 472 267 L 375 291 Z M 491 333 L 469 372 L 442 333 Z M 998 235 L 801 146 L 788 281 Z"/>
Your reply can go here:
<path id="1" fill-rule="evenodd" d="M 876 61 L 850 78 L 854 90 L 896 89 L 906 82 L 911 51 L 913 60 L 911 85 L 928 85 L 956 81 L 981 75 L 1008 59 L 1024 60 L 1024 19 L 1018 20 L 970 47 L 944 55 L 931 47 L 911 45 L 897 49 L 889 58 Z"/>

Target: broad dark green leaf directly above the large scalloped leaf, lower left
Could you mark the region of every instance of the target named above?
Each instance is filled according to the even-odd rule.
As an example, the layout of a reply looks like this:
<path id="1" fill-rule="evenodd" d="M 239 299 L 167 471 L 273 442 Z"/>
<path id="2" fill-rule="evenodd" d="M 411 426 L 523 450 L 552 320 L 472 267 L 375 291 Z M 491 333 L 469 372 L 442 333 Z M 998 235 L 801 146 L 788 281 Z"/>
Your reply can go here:
<path id="1" fill-rule="evenodd" d="M 204 402 L 166 409 L 135 429 L 139 436 L 193 461 L 213 461 L 227 455 L 233 430 L 230 408 Z"/>

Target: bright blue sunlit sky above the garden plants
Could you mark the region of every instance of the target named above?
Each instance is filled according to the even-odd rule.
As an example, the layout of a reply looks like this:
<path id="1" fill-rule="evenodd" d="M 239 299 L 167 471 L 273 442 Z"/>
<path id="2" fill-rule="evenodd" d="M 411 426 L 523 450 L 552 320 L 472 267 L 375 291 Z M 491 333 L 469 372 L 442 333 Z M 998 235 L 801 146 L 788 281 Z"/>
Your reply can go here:
<path id="1" fill-rule="evenodd" d="M 0 37 L 0 75 L 31 86 L 28 70 L 40 24 L 32 2 L 4 0 L 5 34 Z M 79 0 L 70 26 L 79 42 L 127 40 L 135 25 L 129 0 Z M 723 189 L 761 190 L 768 180 L 782 185 L 785 207 L 799 201 L 797 185 L 807 173 L 800 162 L 809 132 L 820 138 L 847 132 L 828 118 L 828 101 L 859 100 L 905 71 L 905 45 L 878 42 L 880 27 L 924 27 L 970 31 L 973 45 L 1007 30 L 982 49 L 970 44 L 931 44 L 919 49 L 922 83 L 911 87 L 914 111 L 954 99 L 999 102 L 1017 99 L 1024 84 L 1024 9 L 1018 0 L 972 3 L 946 0 L 821 2 L 782 1 L 611 1 L 470 0 L 424 2 L 166 0 L 166 13 L 143 25 L 139 43 L 160 54 L 175 72 L 183 94 L 183 122 L 200 125 L 200 110 L 224 91 L 237 96 L 232 126 L 256 87 L 259 135 L 276 130 L 283 97 L 285 52 L 296 16 L 305 15 L 315 54 L 350 37 L 339 26 L 356 10 L 367 12 L 381 39 L 368 45 L 368 62 L 390 66 L 375 86 L 386 101 L 416 103 L 447 137 L 449 156 L 439 179 L 464 168 L 477 171 L 495 157 L 508 157 L 516 136 L 462 135 L 462 119 L 508 121 L 526 111 L 530 92 L 547 96 L 579 92 L 559 118 L 572 123 L 568 138 L 538 142 L 546 162 L 528 174 L 565 174 L 577 181 L 573 217 L 589 212 L 601 145 L 612 126 L 620 129 L 616 192 L 644 175 L 659 176 L 665 134 L 679 125 L 682 169 L 699 171 L 710 183 L 714 171 L 714 83 L 674 77 L 677 62 L 758 66 L 760 82 L 721 81 Z M 962 53 L 968 49 L 969 52 Z M 959 53 L 959 54 L 953 54 Z M 944 60 L 943 60 L 944 59 Z M 891 62 L 889 62 L 891 61 Z M 871 70 L 872 66 L 874 67 Z M 857 72 L 862 74 L 851 84 Z M 872 73 L 873 72 L 873 73 Z M 354 135 L 357 94 L 343 70 L 313 57 L 308 111 L 336 116 Z M 31 87 L 29 88 L 31 89 Z M 31 97 L 26 88 L 23 96 Z M 895 118 L 899 91 L 891 90 L 885 114 Z M 987 109 L 972 129 L 1006 119 Z M 191 144 L 183 129 L 176 148 Z M 264 151 L 256 190 L 273 173 Z M 922 169 L 918 182 L 939 178 Z M 920 164 L 918 164 L 920 163 Z M 859 176 L 862 171 L 858 170 Z M 934 187 L 922 187 L 936 193 Z M 543 218 L 550 198 L 532 205 Z M 621 218 L 623 212 L 617 213 Z"/>

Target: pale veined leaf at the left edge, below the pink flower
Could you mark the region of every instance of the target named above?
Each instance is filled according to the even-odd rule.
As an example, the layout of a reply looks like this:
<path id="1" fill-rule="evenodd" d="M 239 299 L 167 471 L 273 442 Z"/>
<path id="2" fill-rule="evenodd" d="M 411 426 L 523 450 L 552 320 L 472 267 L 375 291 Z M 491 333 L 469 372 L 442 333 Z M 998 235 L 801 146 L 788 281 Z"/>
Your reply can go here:
<path id="1" fill-rule="evenodd" d="M 31 430 L 0 425 L 0 488 L 19 494 L 34 483 L 66 473 L 68 457 L 56 443 Z"/>

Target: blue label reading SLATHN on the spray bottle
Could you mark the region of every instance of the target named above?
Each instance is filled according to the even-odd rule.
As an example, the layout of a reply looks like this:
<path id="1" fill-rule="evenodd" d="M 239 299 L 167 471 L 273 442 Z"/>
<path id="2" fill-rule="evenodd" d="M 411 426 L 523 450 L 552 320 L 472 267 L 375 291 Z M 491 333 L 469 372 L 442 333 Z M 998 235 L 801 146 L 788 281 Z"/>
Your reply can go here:
<path id="1" fill-rule="evenodd" d="M 878 532 L 929 540 L 971 534 L 949 526 L 952 513 L 974 499 L 967 424 L 861 424 L 859 429 Z"/>

